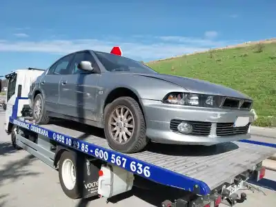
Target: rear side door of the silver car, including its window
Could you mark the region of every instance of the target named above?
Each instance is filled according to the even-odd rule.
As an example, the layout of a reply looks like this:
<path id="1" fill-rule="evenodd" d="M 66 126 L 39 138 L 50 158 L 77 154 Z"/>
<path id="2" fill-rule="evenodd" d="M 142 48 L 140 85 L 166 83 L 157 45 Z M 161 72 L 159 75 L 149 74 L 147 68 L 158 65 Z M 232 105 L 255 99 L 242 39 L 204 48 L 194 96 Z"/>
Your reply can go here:
<path id="1" fill-rule="evenodd" d="M 66 71 L 69 72 L 72 56 L 66 55 L 66 57 L 59 59 L 49 68 L 47 74 L 40 81 L 46 110 L 63 113 L 62 108 L 59 107 L 59 83 L 62 75 L 66 74 Z"/>

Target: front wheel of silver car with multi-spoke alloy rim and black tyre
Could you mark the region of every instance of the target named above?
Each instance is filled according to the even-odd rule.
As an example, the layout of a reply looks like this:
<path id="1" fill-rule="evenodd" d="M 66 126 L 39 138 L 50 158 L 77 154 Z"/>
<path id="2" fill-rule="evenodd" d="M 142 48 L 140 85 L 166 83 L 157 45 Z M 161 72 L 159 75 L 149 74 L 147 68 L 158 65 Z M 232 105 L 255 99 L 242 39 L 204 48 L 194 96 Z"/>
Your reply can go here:
<path id="1" fill-rule="evenodd" d="M 104 110 L 104 133 L 109 146 L 119 152 L 134 153 L 148 144 L 141 108 L 131 97 L 119 97 Z"/>

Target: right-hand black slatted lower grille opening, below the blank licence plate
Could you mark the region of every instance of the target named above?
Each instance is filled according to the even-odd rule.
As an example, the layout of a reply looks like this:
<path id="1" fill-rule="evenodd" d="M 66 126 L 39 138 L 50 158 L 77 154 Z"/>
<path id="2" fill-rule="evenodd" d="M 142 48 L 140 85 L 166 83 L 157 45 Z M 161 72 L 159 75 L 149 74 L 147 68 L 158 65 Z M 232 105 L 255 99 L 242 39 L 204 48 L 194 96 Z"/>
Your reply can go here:
<path id="1" fill-rule="evenodd" d="M 217 123 L 217 136 L 244 135 L 247 134 L 250 123 L 242 127 L 233 127 L 234 123 Z"/>

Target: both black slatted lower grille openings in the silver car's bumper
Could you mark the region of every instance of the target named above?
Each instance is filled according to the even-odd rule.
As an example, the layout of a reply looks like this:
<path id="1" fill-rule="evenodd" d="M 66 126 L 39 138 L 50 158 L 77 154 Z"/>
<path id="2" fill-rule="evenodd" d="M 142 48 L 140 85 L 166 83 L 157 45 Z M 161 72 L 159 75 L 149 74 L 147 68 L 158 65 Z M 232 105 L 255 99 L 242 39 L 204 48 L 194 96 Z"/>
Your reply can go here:
<path id="1" fill-rule="evenodd" d="M 170 130 L 174 132 L 178 132 L 177 126 L 181 122 L 186 122 L 188 124 L 193 125 L 193 131 L 188 135 L 197 135 L 197 136 L 208 136 L 210 135 L 210 130 L 212 123 L 205 121 L 186 121 L 186 120 L 177 120 L 172 119 L 170 121 Z M 232 136 L 232 135 L 246 135 L 248 133 L 248 128 L 250 123 L 243 127 L 233 127 L 234 123 L 217 123 L 217 127 L 215 128 L 216 134 L 219 137 L 224 136 Z M 215 125 L 214 125 L 215 127 Z"/>

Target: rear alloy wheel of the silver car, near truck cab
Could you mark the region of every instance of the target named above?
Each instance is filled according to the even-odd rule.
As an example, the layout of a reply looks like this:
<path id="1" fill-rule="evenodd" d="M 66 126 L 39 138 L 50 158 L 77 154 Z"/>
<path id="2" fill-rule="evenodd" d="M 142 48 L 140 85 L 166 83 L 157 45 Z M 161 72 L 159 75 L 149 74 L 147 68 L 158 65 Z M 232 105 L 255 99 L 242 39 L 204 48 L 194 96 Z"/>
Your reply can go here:
<path id="1" fill-rule="evenodd" d="M 38 94 L 34 98 L 34 105 L 32 108 L 33 108 L 32 116 L 34 117 L 34 121 L 36 124 L 49 123 L 49 117 L 45 109 L 45 102 L 41 94 Z"/>

